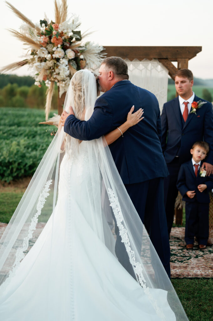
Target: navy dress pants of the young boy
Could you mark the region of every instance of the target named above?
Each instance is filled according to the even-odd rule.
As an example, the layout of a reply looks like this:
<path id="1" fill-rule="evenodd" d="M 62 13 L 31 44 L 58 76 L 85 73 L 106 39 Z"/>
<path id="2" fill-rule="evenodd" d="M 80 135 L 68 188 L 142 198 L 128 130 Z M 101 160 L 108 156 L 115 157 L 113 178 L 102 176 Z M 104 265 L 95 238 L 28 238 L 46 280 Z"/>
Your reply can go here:
<path id="1" fill-rule="evenodd" d="M 185 242 L 186 244 L 194 244 L 194 237 L 198 239 L 198 243 L 206 245 L 209 238 L 209 204 L 186 202 L 186 227 Z"/>

